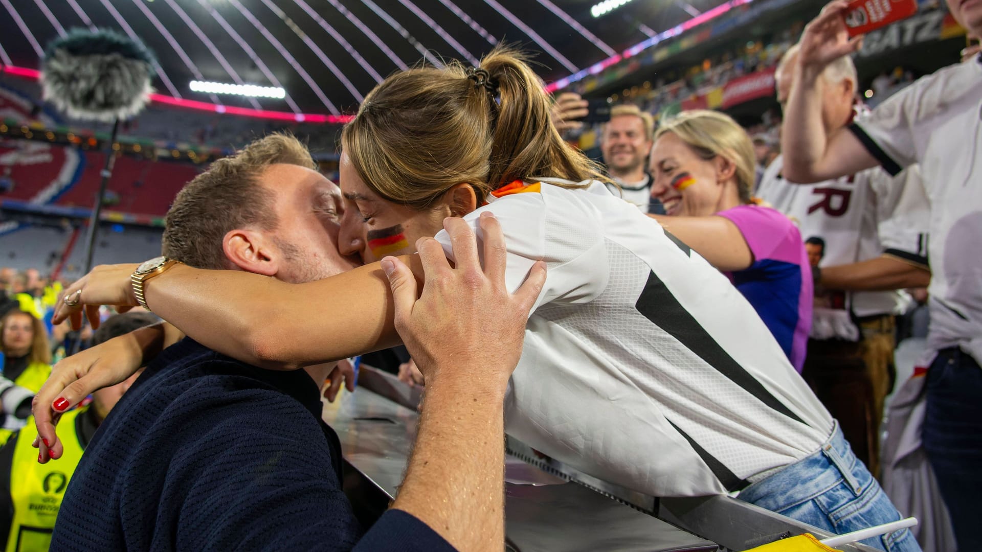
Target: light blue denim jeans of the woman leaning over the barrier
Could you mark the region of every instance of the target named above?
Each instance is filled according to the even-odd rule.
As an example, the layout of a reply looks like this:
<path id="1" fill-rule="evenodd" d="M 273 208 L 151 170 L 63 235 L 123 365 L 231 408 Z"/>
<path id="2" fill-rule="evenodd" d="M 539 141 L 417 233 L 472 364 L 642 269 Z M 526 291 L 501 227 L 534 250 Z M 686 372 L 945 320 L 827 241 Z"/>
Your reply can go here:
<path id="1" fill-rule="evenodd" d="M 900 520 L 880 483 L 852 453 L 839 422 L 818 452 L 751 484 L 736 498 L 837 534 Z M 908 529 L 861 542 L 889 552 L 920 551 Z"/>

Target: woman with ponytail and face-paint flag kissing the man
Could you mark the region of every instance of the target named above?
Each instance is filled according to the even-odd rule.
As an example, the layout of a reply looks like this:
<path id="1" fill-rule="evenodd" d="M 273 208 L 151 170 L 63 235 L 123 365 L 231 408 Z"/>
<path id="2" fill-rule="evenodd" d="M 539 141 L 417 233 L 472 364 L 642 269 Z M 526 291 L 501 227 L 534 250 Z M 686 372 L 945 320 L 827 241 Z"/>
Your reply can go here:
<path id="1" fill-rule="evenodd" d="M 505 398 L 509 434 L 655 496 L 736 491 L 824 459 L 823 445 L 841 433 L 753 307 L 700 255 L 610 193 L 597 167 L 560 138 L 549 108 L 541 81 L 507 48 L 478 68 L 395 74 L 365 97 L 342 135 L 339 243 L 365 266 L 292 285 L 178 264 L 147 283 L 145 301 L 206 347 L 270 369 L 391 347 L 399 336 L 387 274 L 411 269 L 440 285 L 443 276 L 424 273 L 412 253 L 443 248 L 454 260 L 444 226 L 461 221 L 445 219 L 463 217 L 480 239 L 487 212 L 504 232 L 509 290 L 537 261 L 547 265 Z M 67 291 L 81 291 L 79 305 L 63 304 L 58 319 L 79 317 L 82 304 L 136 304 L 134 269 L 96 268 Z M 127 370 L 89 373 L 77 362 L 58 371 L 39 404 L 74 404 L 75 393 Z M 50 424 L 40 431 L 54 438 Z M 811 475 L 839 473 L 815 462 Z M 860 479 L 862 489 L 883 496 L 871 477 Z M 815 511 L 809 523 L 835 531 L 891 518 L 833 526 Z"/>

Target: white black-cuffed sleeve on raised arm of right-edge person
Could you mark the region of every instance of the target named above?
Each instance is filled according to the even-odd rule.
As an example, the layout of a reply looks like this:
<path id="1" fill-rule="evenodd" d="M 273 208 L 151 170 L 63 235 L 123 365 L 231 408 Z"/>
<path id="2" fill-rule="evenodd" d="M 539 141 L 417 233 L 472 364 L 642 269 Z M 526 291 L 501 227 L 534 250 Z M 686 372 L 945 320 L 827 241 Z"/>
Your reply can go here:
<path id="1" fill-rule="evenodd" d="M 856 118 L 849 130 L 891 175 L 917 163 L 930 133 L 923 127 L 941 105 L 941 79 L 928 75 L 910 84 L 869 113 Z"/>

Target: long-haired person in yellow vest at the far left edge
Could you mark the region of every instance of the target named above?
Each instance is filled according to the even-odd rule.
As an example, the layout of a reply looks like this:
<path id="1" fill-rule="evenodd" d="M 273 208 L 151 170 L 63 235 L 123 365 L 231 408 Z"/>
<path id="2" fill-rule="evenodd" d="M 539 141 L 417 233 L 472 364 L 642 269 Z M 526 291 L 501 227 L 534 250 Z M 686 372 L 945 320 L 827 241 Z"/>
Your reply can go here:
<path id="1" fill-rule="evenodd" d="M 14 308 L 0 318 L 0 353 L 3 377 L 37 393 L 51 375 L 51 349 L 44 323 L 29 312 Z M 7 416 L 0 428 L 0 443 L 24 426 L 24 420 Z"/>

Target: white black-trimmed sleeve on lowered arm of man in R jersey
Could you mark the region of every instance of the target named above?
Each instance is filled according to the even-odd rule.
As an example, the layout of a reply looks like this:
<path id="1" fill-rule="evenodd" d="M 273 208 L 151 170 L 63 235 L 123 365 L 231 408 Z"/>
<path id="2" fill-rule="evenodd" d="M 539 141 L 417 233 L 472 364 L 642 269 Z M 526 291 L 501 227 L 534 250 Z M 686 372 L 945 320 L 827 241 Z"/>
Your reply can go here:
<path id="1" fill-rule="evenodd" d="M 877 230 L 884 252 L 926 266 L 931 207 L 920 166 L 911 165 L 896 177 L 881 172 L 871 184 L 876 194 Z"/>

